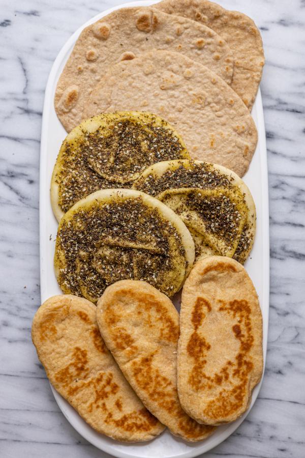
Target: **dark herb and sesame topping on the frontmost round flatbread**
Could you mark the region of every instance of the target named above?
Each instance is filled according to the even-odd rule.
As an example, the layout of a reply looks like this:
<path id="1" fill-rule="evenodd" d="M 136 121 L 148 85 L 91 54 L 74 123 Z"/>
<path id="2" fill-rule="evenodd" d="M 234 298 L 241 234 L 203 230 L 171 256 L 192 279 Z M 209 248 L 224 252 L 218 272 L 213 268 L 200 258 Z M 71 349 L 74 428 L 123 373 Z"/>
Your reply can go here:
<path id="1" fill-rule="evenodd" d="M 147 208 L 141 197 L 118 198 L 103 206 L 93 203 L 58 228 L 55 256 L 60 259 L 64 253 L 65 257 L 58 283 L 64 291 L 93 302 L 119 279 L 145 280 L 171 296 L 173 287 L 164 291 L 158 281 L 176 262 L 169 255 L 168 240 L 173 238 L 185 256 L 174 226 L 157 210 Z"/>

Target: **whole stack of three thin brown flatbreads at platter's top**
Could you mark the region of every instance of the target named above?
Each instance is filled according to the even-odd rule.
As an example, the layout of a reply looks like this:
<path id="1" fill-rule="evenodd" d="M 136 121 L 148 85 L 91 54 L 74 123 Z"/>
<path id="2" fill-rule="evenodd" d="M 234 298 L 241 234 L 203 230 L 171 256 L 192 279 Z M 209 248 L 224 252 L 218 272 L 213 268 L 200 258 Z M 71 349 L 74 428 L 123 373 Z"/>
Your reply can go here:
<path id="1" fill-rule="evenodd" d="M 148 111 L 177 129 L 193 159 L 242 177 L 256 149 L 249 110 L 264 54 L 248 16 L 206 0 L 123 8 L 80 34 L 55 110 L 70 132 L 104 112 Z"/>

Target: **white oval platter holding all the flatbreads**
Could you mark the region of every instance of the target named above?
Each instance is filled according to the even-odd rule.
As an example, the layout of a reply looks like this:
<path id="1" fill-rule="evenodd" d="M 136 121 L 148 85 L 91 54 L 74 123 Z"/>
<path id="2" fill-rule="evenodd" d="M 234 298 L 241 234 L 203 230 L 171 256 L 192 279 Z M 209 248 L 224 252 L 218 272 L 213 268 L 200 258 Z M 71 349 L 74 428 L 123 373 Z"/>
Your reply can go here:
<path id="1" fill-rule="evenodd" d="M 41 157 L 40 157 L 40 281 L 41 301 L 44 302 L 50 296 L 60 294 L 54 270 L 53 256 L 57 231 L 57 221 L 53 215 L 49 187 L 53 166 L 67 132 L 57 119 L 53 99 L 56 83 L 62 72 L 67 59 L 72 51 L 75 41 L 84 27 L 122 7 L 148 6 L 153 1 L 132 2 L 115 8 L 108 9 L 83 24 L 67 41 L 60 50 L 51 69 L 44 100 L 42 134 L 41 134 Z M 252 116 L 258 130 L 258 145 L 246 176 L 243 178 L 249 186 L 257 212 L 257 230 L 255 243 L 246 262 L 246 269 L 253 280 L 259 296 L 260 306 L 263 314 L 263 352 L 266 357 L 267 331 L 268 331 L 268 310 L 269 310 L 269 210 L 268 210 L 268 176 L 267 158 L 265 143 L 265 127 L 263 118 L 263 107 L 260 91 L 258 91 L 256 102 L 252 110 Z M 259 393 L 261 383 L 254 389 L 252 403 L 247 413 L 252 408 Z M 217 446 L 230 436 L 240 423 L 245 419 L 247 413 L 238 420 L 228 425 L 218 427 L 216 433 L 204 441 L 198 443 L 187 443 L 172 436 L 167 430 L 157 439 L 150 442 L 124 444 L 109 439 L 94 431 L 60 396 L 53 388 L 53 394 L 59 408 L 75 428 L 87 441 L 99 449 L 121 458 L 187 458 L 198 456 L 211 448 Z"/>

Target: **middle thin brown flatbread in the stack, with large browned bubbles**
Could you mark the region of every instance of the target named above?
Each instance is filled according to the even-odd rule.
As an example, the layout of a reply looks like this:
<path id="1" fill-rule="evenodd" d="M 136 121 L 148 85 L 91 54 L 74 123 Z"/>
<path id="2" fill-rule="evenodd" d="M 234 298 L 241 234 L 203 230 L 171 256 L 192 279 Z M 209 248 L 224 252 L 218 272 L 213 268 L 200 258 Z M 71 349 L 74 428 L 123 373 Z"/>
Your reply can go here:
<path id="1" fill-rule="evenodd" d="M 119 9 L 82 31 L 60 75 L 54 104 L 65 129 L 80 123 L 88 95 L 109 66 L 155 48 L 186 54 L 231 83 L 232 51 L 216 32 L 154 8 Z"/>

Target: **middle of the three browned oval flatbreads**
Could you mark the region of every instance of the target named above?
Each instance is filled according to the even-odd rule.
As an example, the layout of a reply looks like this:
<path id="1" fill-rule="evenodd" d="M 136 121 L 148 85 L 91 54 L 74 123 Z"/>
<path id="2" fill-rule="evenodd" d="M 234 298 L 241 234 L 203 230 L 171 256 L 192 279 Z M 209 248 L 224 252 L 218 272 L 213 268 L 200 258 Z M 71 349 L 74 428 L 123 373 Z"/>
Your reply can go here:
<path id="1" fill-rule="evenodd" d="M 190 418 L 179 403 L 179 315 L 164 294 L 144 281 L 118 281 L 99 299 L 97 321 L 107 347 L 143 404 L 174 435 L 199 441 L 214 432 Z"/>

